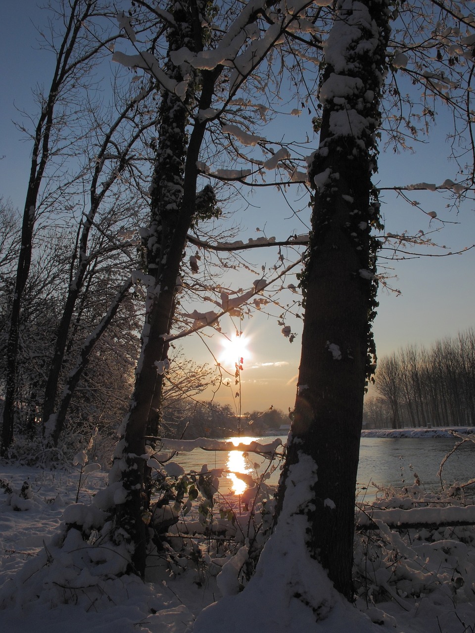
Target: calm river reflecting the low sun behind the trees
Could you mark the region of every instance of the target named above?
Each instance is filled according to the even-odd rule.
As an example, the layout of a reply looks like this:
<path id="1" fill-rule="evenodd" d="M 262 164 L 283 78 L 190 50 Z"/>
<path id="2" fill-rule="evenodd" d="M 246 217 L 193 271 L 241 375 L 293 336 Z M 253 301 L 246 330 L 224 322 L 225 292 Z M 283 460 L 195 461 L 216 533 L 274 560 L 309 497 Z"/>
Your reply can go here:
<path id="1" fill-rule="evenodd" d="M 241 438 L 241 441 L 258 439 L 262 443 L 272 442 L 276 437 Z M 232 438 L 231 438 L 232 439 Z M 285 441 L 285 437 L 281 438 Z M 394 486 L 401 488 L 414 484 L 417 473 L 421 485 L 427 491 L 440 490 L 438 470 L 445 455 L 452 450 L 455 441 L 451 438 L 415 437 L 415 438 L 362 438 L 360 444 L 360 461 L 358 465 L 357 490 L 358 498 L 365 496 L 367 501 L 374 498 L 377 486 Z M 267 465 L 267 460 L 260 456 L 249 454 L 244 456 L 239 451 L 203 451 L 194 449 L 190 453 L 179 453 L 177 461 L 186 470 L 200 472 L 203 464 L 208 469 L 224 468 L 234 472 L 252 474 L 256 472 L 255 465 L 260 465 L 257 472 Z M 466 442 L 448 458 L 442 472 L 445 484 L 455 481 L 466 482 L 475 477 L 475 444 Z M 279 479 L 279 469 L 272 473 L 269 483 L 276 484 Z M 220 481 L 220 492 L 243 492 L 245 484 L 236 482 L 236 475 L 223 476 Z"/>

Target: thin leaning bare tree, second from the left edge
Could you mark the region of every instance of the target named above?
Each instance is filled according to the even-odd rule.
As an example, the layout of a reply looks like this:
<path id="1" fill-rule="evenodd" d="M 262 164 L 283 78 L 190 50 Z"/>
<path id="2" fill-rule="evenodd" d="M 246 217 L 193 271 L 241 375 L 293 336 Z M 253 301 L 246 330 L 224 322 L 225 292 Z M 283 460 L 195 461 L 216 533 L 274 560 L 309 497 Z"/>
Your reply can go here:
<path id="1" fill-rule="evenodd" d="M 66 346 L 71 336 L 71 324 L 73 316 L 77 313 L 77 303 L 80 294 L 84 290 L 84 285 L 91 278 L 91 272 L 94 269 L 94 262 L 97 261 L 98 255 L 103 257 L 105 254 L 120 253 L 126 254 L 130 248 L 134 249 L 134 239 L 131 241 L 122 241 L 119 236 L 113 236 L 113 231 L 118 225 L 116 217 L 117 208 L 124 209 L 123 215 L 137 214 L 137 203 L 130 199 L 130 194 L 125 199 L 124 193 L 121 191 L 120 184 L 122 180 L 127 179 L 128 182 L 134 177 L 134 165 L 132 152 L 136 150 L 137 141 L 143 139 L 144 132 L 148 128 L 155 125 L 155 119 L 149 117 L 142 121 L 137 112 L 138 106 L 142 105 L 141 101 L 151 92 L 151 87 L 141 93 L 140 98 L 128 100 L 122 106 L 117 118 L 110 123 L 99 122 L 96 120 L 96 143 L 97 151 L 92 151 L 93 158 L 88 161 L 91 170 L 84 170 L 82 180 L 84 181 L 84 189 L 89 197 L 89 206 L 87 210 L 82 212 L 80 220 L 77 240 L 72 253 L 72 264 L 70 266 L 68 289 L 66 292 L 63 313 L 56 332 L 56 342 L 53 351 L 53 358 L 49 367 L 46 387 L 44 391 L 44 403 L 42 408 L 42 419 L 44 423 L 44 436 L 46 441 L 58 443 L 61 429 L 65 422 L 66 401 L 61 400 L 60 410 L 55 412 L 55 404 L 58 396 L 58 385 L 60 384 L 61 370 L 63 368 Z M 128 185 L 130 188 L 130 185 Z M 137 193 L 136 193 L 137 197 Z M 130 214 L 130 207 L 135 206 L 134 214 Z M 103 207 L 106 209 L 103 211 Z M 120 227 L 120 225 L 119 225 Z M 99 231 L 99 244 L 97 240 L 90 242 L 91 231 Z M 122 230 L 124 233 L 125 231 Z M 129 230 L 130 232 L 130 230 Z M 137 227 L 132 227 L 132 234 L 137 234 Z M 125 263 L 127 256 L 124 258 L 124 274 L 130 275 L 127 268 L 134 269 L 137 265 L 136 256 L 130 256 L 130 266 Z M 108 310 L 108 316 L 105 315 L 101 324 L 94 330 L 95 334 L 103 332 L 112 316 L 118 309 L 119 298 L 122 300 L 127 290 L 132 286 L 132 279 L 125 282 L 124 289 L 118 291 L 117 296 L 113 299 L 115 308 Z M 127 290 L 126 290 L 127 289 Z M 85 350 L 92 350 L 87 344 L 81 351 L 81 358 L 85 362 L 89 353 Z M 78 370 L 79 368 L 77 368 Z M 77 375 L 77 370 L 76 375 Z M 78 377 L 79 379 L 79 377 Z M 67 391 L 69 399 L 72 396 L 73 385 L 76 381 L 68 380 Z M 66 407 L 66 408 L 65 408 Z"/>

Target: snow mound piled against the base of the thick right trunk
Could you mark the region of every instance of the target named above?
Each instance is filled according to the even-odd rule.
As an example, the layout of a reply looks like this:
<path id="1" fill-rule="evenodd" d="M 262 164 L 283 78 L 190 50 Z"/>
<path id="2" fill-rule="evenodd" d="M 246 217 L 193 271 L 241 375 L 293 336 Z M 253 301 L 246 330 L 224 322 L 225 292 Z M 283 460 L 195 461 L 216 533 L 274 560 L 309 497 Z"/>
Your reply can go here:
<path id="1" fill-rule="evenodd" d="M 291 494 L 286 494 L 281 519 L 265 544 L 255 574 L 244 591 L 205 609 L 196 620 L 194 633 L 221 631 L 224 623 L 227 633 L 376 630 L 367 616 L 335 591 L 305 546 L 308 520 L 301 508 L 315 477 L 315 463 L 308 456 L 301 456 L 290 468 Z"/>

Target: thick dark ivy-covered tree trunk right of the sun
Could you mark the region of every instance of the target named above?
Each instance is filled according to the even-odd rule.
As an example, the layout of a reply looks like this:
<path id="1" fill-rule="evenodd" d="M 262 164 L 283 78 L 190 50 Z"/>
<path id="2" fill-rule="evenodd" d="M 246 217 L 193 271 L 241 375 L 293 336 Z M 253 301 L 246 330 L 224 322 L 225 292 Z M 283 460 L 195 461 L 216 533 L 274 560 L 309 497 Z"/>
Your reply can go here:
<path id="1" fill-rule="evenodd" d="M 374 132 L 388 41 L 386 0 L 340 0 L 324 45 L 326 67 L 319 149 L 310 165 L 317 187 L 312 236 L 302 280 L 305 320 L 295 416 L 278 510 L 290 465 L 303 454 L 317 465 L 305 513 L 308 549 L 338 591 L 352 598 L 355 484 L 363 398 L 374 363 L 378 222 L 371 175 Z"/>

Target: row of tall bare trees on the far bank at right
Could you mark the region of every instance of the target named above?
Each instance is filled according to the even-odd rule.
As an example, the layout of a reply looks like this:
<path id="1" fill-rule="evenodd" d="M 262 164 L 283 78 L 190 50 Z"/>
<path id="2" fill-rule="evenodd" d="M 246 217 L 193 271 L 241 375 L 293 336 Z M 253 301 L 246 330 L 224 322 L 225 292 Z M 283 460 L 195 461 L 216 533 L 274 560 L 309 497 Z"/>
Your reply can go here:
<path id="1" fill-rule="evenodd" d="M 380 397 L 365 404 L 372 427 L 475 424 L 475 329 L 384 356 L 375 387 Z"/>

